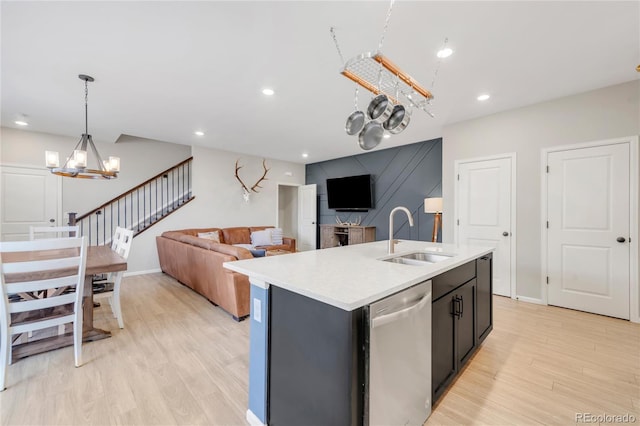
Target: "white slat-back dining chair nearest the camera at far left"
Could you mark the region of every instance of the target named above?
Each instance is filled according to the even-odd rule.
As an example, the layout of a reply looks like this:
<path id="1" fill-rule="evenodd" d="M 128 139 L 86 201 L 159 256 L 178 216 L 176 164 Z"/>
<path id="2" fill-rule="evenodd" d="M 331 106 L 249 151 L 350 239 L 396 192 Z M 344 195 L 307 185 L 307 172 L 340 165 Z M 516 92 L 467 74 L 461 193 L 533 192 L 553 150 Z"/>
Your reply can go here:
<path id="1" fill-rule="evenodd" d="M 82 365 L 86 266 L 84 237 L 0 242 L 0 390 L 5 389 L 11 336 L 16 334 L 73 323 L 75 365 Z M 75 292 L 63 292 L 69 287 Z M 33 297 L 12 297 L 17 294 Z"/>

